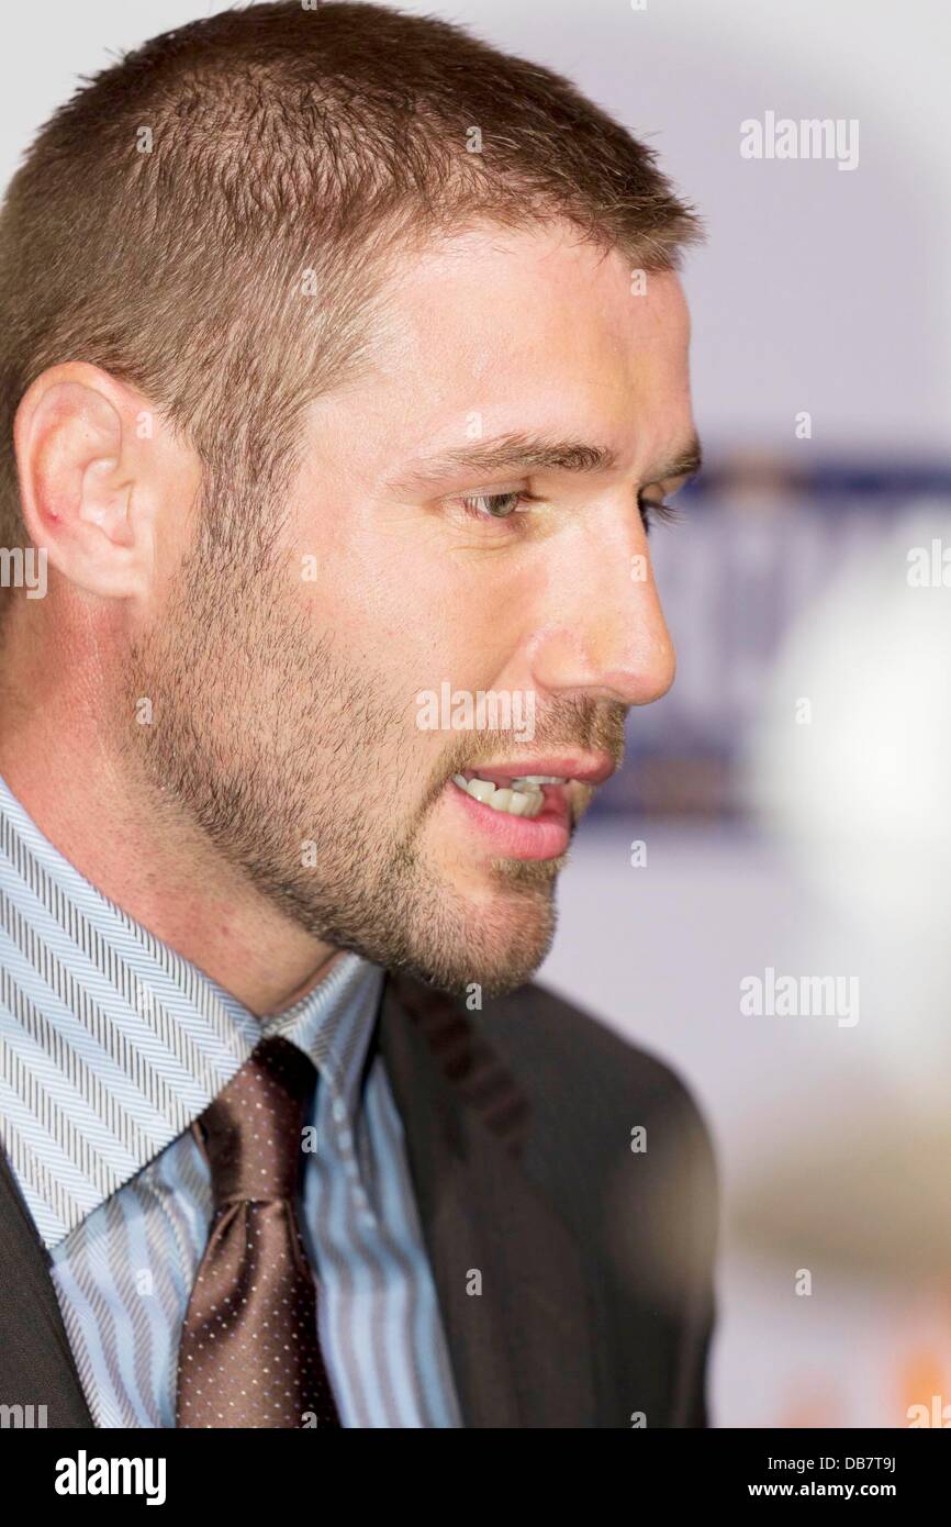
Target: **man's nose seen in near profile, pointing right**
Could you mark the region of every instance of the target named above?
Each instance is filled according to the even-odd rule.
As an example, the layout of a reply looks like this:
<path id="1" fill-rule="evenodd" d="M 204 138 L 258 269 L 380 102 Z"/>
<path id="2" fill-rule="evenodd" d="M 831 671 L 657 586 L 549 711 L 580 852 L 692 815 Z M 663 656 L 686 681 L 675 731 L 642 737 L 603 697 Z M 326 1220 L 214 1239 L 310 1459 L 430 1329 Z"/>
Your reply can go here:
<path id="1" fill-rule="evenodd" d="M 568 698 L 649 705 L 666 695 L 676 655 L 661 609 L 647 536 L 630 513 L 585 527 L 565 547 L 531 640 L 537 689 Z"/>

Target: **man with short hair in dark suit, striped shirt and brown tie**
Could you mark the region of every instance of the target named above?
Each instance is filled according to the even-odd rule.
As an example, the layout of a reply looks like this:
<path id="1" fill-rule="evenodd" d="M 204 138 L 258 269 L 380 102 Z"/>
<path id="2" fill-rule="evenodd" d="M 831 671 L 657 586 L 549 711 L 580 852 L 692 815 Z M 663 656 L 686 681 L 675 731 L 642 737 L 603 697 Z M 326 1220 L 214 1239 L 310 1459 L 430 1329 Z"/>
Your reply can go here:
<path id="1" fill-rule="evenodd" d="M 695 237 L 565 81 L 369 5 L 159 37 L 40 133 L 0 218 L 3 545 L 47 577 L 3 596 L 2 1402 L 707 1425 L 705 1127 L 527 985 L 673 680 Z"/>

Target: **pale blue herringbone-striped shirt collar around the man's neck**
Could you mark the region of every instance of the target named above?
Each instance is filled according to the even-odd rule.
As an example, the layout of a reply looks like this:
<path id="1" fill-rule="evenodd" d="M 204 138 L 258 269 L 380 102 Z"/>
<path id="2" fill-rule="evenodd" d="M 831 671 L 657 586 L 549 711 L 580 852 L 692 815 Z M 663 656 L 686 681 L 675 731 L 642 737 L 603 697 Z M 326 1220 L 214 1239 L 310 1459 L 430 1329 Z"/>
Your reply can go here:
<path id="1" fill-rule="evenodd" d="M 0 1138 L 49 1249 L 270 1034 L 310 1055 L 353 1127 L 382 982 L 342 953 L 292 1008 L 256 1019 L 96 890 L 0 777 Z"/>

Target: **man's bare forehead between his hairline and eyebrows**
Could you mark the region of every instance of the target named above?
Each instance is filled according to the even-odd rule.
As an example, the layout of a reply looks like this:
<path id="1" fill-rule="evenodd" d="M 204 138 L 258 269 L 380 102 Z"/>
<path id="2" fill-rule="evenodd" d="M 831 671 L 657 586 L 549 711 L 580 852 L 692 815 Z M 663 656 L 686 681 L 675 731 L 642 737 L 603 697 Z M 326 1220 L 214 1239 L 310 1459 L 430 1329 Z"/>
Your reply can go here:
<path id="1" fill-rule="evenodd" d="M 588 435 L 621 458 L 637 440 L 676 446 L 691 428 L 687 304 L 675 273 L 632 276 L 620 250 L 565 224 L 472 229 L 401 255 L 371 370 L 339 417 L 333 399 L 319 411 L 334 431 L 359 412 L 380 467 L 473 429 Z"/>

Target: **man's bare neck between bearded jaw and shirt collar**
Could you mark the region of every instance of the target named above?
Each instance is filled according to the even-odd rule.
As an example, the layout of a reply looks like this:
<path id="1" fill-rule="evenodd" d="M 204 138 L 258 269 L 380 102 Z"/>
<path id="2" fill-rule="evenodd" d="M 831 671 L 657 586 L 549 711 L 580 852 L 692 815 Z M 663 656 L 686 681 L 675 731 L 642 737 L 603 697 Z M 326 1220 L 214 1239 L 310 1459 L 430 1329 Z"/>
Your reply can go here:
<path id="1" fill-rule="evenodd" d="M 250 1012 L 281 1012 L 339 957 L 287 919 L 114 750 L 102 673 L 55 680 L 63 654 L 17 651 L 0 686 L 0 774 L 43 835 L 136 922 Z M 64 664 L 63 664 L 64 666 Z"/>

